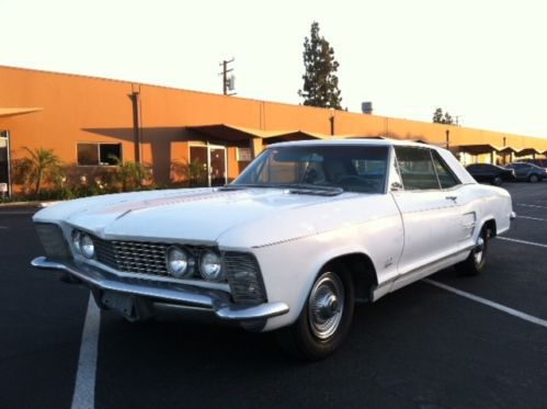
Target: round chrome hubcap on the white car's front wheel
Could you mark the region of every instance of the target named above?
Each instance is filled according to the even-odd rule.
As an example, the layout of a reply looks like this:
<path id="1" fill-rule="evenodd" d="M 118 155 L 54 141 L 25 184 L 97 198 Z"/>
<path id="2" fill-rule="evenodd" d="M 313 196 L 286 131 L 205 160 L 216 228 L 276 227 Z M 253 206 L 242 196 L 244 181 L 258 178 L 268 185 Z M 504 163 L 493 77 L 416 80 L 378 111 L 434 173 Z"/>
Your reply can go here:
<path id="1" fill-rule="evenodd" d="M 344 286 L 337 274 L 323 274 L 311 288 L 308 299 L 311 332 L 326 340 L 337 331 L 344 308 Z"/>

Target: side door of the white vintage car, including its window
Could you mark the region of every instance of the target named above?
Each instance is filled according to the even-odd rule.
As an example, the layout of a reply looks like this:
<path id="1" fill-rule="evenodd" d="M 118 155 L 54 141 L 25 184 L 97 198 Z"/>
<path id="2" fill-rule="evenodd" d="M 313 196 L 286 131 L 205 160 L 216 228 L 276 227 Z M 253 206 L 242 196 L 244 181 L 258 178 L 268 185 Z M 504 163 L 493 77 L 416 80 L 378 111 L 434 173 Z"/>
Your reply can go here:
<path id="1" fill-rule="evenodd" d="M 404 227 L 399 274 L 404 275 L 458 251 L 461 184 L 438 154 L 422 147 L 395 147 L 402 190 L 391 194 Z"/>

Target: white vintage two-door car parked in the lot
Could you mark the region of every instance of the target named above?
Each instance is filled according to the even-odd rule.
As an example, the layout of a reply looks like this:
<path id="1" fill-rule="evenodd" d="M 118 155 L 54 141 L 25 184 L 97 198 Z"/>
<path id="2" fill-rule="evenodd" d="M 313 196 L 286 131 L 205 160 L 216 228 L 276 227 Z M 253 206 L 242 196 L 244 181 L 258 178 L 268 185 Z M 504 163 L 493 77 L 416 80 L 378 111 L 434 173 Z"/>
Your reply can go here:
<path id="1" fill-rule="evenodd" d="M 345 139 L 270 146 L 224 188 L 124 193 L 34 216 L 41 269 L 129 320 L 163 309 L 278 331 L 318 360 L 373 303 L 436 271 L 485 269 L 514 217 L 447 150 Z"/>

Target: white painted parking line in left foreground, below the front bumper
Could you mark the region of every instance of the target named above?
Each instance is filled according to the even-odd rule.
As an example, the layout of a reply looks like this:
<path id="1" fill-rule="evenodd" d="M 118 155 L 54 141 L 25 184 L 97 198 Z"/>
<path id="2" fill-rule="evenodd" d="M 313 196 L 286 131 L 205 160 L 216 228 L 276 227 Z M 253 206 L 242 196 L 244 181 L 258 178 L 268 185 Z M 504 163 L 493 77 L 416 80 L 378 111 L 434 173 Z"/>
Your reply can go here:
<path id="1" fill-rule="evenodd" d="M 80 357 L 76 374 L 75 394 L 71 409 L 89 409 L 95 407 L 95 372 L 99 330 L 101 328 L 101 310 L 93 296 L 89 295 L 88 313 L 83 323 Z"/>

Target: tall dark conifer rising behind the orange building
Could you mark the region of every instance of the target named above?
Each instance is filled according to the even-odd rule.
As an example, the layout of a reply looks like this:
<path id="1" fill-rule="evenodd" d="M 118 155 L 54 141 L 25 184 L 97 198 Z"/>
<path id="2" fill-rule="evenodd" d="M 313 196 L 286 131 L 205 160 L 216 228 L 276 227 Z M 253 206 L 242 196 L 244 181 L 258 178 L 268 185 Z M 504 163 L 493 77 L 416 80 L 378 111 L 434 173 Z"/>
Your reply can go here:
<path id="1" fill-rule="evenodd" d="M 304 105 L 332 107 L 340 110 L 342 98 L 338 89 L 339 64 L 334 59 L 334 49 L 319 35 L 319 23 L 311 24 L 310 37 L 304 39 L 304 87 L 298 95 L 304 98 Z"/>

